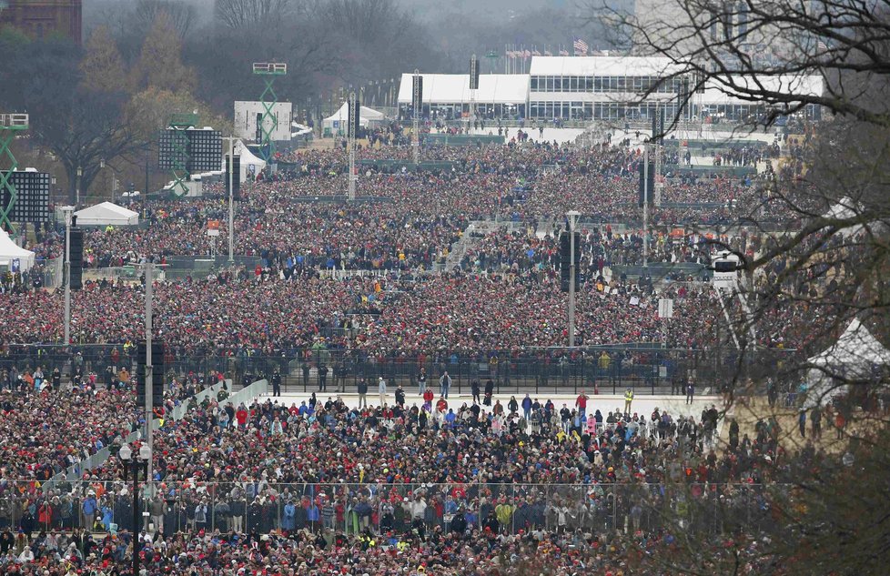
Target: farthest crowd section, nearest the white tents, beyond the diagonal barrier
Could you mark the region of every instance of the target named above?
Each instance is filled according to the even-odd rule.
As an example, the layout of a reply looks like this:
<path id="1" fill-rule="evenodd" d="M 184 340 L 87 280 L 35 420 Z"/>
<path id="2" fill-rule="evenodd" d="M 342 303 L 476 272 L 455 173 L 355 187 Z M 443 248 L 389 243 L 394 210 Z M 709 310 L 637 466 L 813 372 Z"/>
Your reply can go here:
<path id="1" fill-rule="evenodd" d="M 376 202 L 351 206 L 345 197 L 343 154 L 299 151 L 277 177 L 245 183 L 235 220 L 238 254 L 292 259 L 312 268 L 430 268 L 447 253 L 471 219 L 501 217 L 535 222 L 575 209 L 592 222 L 642 224 L 637 166 L 641 150 L 628 147 L 517 145 L 460 149 L 433 147 L 429 172 L 363 166 L 359 195 Z M 362 159 L 406 156 L 403 148 L 368 148 Z M 86 237 L 86 263 L 120 266 L 140 258 L 206 256 L 228 246 L 228 198 L 220 185 L 206 197 L 149 200 L 132 206 L 147 221 L 136 229 L 96 229 Z M 763 198 L 759 187 L 728 178 L 668 178 L 650 223 L 714 224 L 743 217 Z M 207 236 L 218 221 L 218 237 Z M 38 234 L 38 257 L 61 253 L 61 230 Z"/>

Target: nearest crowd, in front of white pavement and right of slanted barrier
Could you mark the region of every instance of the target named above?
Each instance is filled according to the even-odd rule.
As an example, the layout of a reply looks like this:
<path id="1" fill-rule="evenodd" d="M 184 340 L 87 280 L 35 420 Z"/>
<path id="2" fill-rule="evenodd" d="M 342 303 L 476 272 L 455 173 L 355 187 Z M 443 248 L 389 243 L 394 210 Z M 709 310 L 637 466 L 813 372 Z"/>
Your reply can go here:
<path id="1" fill-rule="evenodd" d="M 399 389 L 361 409 L 339 398 L 210 401 L 156 435 L 142 565 L 152 576 L 511 574 L 530 560 L 504 554 L 538 549 L 549 551 L 535 564 L 548 573 L 619 570 L 632 565 L 636 539 L 669 543 L 671 527 L 654 513 L 667 484 L 703 501 L 710 484 L 761 513 L 762 490 L 789 465 L 778 430 L 764 423 L 717 450 L 717 419 L 713 407 L 701 419 L 640 414 L 583 392 L 571 407 L 528 396 L 419 406 Z M 125 566 L 132 500 L 117 467 L 109 460 L 47 492 L 0 487 L 0 525 L 18 531 L 0 536 L 5 573 Z"/>

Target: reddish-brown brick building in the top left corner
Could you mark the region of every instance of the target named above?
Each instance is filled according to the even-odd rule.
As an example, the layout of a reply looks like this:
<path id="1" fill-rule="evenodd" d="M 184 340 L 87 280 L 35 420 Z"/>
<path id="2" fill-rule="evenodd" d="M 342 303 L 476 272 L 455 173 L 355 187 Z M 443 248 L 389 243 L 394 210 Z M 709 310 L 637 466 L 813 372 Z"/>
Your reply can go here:
<path id="1" fill-rule="evenodd" d="M 57 32 L 81 44 L 83 0 L 0 0 L 0 27 L 5 25 L 35 38 Z"/>

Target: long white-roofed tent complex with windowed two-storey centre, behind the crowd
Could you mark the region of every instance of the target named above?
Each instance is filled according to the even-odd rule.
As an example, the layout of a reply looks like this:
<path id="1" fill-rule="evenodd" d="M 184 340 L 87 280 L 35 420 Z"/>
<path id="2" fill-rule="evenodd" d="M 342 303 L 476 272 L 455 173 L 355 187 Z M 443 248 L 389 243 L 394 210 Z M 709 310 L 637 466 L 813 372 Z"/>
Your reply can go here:
<path id="1" fill-rule="evenodd" d="M 682 102 L 686 105 L 681 117 L 686 120 L 712 116 L 737 122 L 766 114 L 763 104 L 733 92 L 732 83 L 709 79 L 703 89 L 689 94 L 693 84 L 680 70 L 662 56 L 533 56 L 530 74 L 483 74 L 474 92 L 470 92 L 470 75 L 421 74 L 421 116 L 465 118 L 470 102 L 484 120 L 648 122 L 657 110 L 673 118 Z M 412 114 L 411 76 L 403 74 L 399 86 L 399 116 L 403 119 Z M 736 86 L 749 81 L 734 80 Z M 791 95 L 814 96 L 824 91 L 820 76 L 770 76 L 760 82 L 768 90 Z M 806 106 L 804 112 L 813 119 L 822 117 L 818 106 Z"/>

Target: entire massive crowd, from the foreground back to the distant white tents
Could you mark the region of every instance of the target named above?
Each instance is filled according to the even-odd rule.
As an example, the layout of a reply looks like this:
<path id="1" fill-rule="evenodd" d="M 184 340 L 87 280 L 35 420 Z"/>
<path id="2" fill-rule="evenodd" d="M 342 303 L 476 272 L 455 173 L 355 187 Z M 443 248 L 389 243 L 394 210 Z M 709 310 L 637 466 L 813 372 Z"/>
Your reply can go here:
<path id="1" fill-rule="evenodd" d="M 747 166 L 759 154 L 730 150 L 721 161 Z M 408 158 L 407 147 L 361 149 L 360 195 L 372 198 L 355 204 L 332 198 L 346 193 L 341 151 L 284 155 L 277 177 L 246 183 L 235 251 L 257 265 L 157 280 L 155 325 L 168 354 L 277 357 L 278 369 L 312 349 L 409 364 L 460 356 L 493 366 L 498 355 L 505 365 L 521 356 L 567 364 L 553 350 L 568 339 L 558 239 L 568 209 L 583 221 L 579 344 L 713 343 L 720 307 L 699 278 L 662 284 L 611 273 L 642 263 L 640 149 L 511 141 L 431 147 L 424 159 L 439 166 L 430 171 L 383 162 Z M 225 246 L 226 198 L 218 185 L 206 192 L 135 203 L 143 227 L 90 230 L 87 266 L 164 263 Z M 703 237 L 675 228 L 740 217 L 765 199 L 750 181 L 723 177 L 668 178 L 661 195 L 648 259 L 693 265 L 710 258 Z M 518 225 L 469 238 L 455 266 L 450 249 L 470 222 L 492 218 Z M 218 237 L 207 236 L 212 220 Z M 38 258 L 61 253 L 62 238 L 38 230 Z M 721 239 L 745 254 L 761 248 L 744 231 Z M 767 274 L 758 281 L 781 270 Z M 359 383 L 361 396 L 379 398 L 370 407 L 324 393 L 300 406 L 235 405 L 226 394 L 197 403 L 195 392 L 222 377 L 174 369 L 165 406 L 187 403 L 187 412 L 155 437 L 157 493 L 140 533 L 118 459 L 80 480 L 42 484 L 102 448 L 114 452 L 138 428 L 128 369 L 144 295 L 138 281 L 87 280 L 72 299 L 72 340 L 103 351 L 57 366 L 41 345 L 62 338 L 60 291 L 0 296 L 0 571 L 110 576 L 128 570 L 136 547 L 146 576 L 617 576 L 672 550 L 677 525 L 657 513 L 663 506 L 686 528 L 712 522 L 713 534 L 717 522 L 680 510 L 720 501 L 757 522 L 764 487 L 796 465 L 774 421 L 752 438 L 736 427 L 734 441 L 730 424 L 730 442 L 718 446 L 713 406 L 700 417 L 639 413 L 631 400 L 621 409 L 583 391 L 554 406 L 547 392 L 508 398 L 487 386 L 484 401 L 459 405 L 447 388 L 420 399 L 422 390 L 402 388 L 407 381 L 388 389 L 382 372 Z M 673 299 L 670 322 L 659 318 L 660 298 Z M 785 346 L 797 338 L 788 325 L 803 318 L 791 308 L 760 338 Z M 23 366 L 14 347 L 28 344 L 37 352 Z M 619 359 L 593 365 L 603 361 Z M 308 362 L 300 366 L 308 375 Z M 313 368 L 322 368 L 318 358 Z"/>

